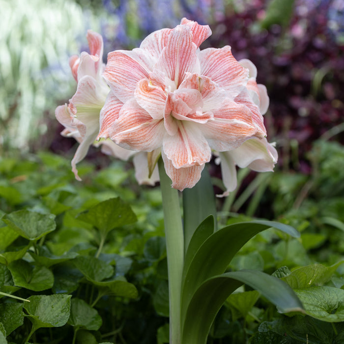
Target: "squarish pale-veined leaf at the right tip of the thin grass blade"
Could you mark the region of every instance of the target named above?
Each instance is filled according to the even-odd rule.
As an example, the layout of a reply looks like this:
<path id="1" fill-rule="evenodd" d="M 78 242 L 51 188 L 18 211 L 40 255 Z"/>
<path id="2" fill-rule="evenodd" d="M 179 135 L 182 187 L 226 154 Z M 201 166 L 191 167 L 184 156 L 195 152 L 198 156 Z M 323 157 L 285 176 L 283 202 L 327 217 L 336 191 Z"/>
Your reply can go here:
<path id="1" fill-rule="evenodd" d="M 24 304 L 28 317 L 35 329 L 60 327 L 66 324 L 70 315 L 72 295 L 33 295 Z"/>

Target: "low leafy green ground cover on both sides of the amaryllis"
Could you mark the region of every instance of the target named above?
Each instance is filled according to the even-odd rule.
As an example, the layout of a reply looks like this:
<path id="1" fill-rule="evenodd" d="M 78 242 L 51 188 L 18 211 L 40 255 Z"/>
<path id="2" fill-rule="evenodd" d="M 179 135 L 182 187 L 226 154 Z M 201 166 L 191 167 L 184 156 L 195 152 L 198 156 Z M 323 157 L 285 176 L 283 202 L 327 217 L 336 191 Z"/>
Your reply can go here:
<path id="1" fill-rule="evenodd" d="M 301 236 L 261 232 L 228 266 L 281 278 L 305 314 L 281 315 L 241 287 L 217 315 L 208 343 L 343 342 L 342 148 L 314 143 L 311 176 L 266 173 L 255 213 L 273 197 L 268 219 Z M 69 160 L 47 152 L 2 158 L 0 173 L 0 343 L 168 343 L 159 188 L 138 188 L 130 164 L 118 161 L 100 171 L 81 164 L 80 183 Z M 220 212 L 221 226 L 256 218 L 245 214 L 253 198 L 240 213 Z"/>

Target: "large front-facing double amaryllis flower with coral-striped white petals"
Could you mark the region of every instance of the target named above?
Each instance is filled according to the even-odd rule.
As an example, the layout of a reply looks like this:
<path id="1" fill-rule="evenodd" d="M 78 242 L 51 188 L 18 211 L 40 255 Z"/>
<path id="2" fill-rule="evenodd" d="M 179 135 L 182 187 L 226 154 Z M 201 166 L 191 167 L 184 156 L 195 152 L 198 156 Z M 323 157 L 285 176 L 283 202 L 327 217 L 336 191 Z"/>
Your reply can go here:
<path id="1" fill-rule="evenodd" d="M 103 74 L 111 90 L 98 138 L 135 151 L 161 149 L 179 190 L 197 183 L 212 150 L 232 151 L 266 136 L 259 110 L 266 99 L 229 46 L 199 49 L 210 34 L 183 18 L 148 35 L 140 48 L 110 53 Z"/>

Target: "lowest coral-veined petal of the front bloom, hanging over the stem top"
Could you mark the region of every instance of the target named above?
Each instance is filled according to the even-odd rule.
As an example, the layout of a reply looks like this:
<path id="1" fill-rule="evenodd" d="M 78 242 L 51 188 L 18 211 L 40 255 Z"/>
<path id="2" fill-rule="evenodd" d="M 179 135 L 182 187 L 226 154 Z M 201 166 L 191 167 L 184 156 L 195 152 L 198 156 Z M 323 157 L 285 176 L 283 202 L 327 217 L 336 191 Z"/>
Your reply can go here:
<path id="1" fill-rule="evenodd" d="M 176 169 L 163 151 L 161 155 L 164 160 L 166 173 L 172 180 L 172 188 L 183 191 L 185 188 L 194 187 L 200 180 L 204 164 Z"/>

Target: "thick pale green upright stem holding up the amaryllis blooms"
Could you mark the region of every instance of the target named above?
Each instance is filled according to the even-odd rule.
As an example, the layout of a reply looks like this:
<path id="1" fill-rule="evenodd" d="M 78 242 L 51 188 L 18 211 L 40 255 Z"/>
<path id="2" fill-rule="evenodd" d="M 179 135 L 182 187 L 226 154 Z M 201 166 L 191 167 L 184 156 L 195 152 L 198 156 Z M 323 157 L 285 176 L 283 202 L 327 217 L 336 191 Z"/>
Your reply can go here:
<path id="1" fill-rule="evenodd" d="M 180 344 L 180 294 L 184 264 L 184 233 L 178 191 L 171 187 L 162 159 L 158 162 L 163 199 L 170 296 L 170 344 Z"/>

